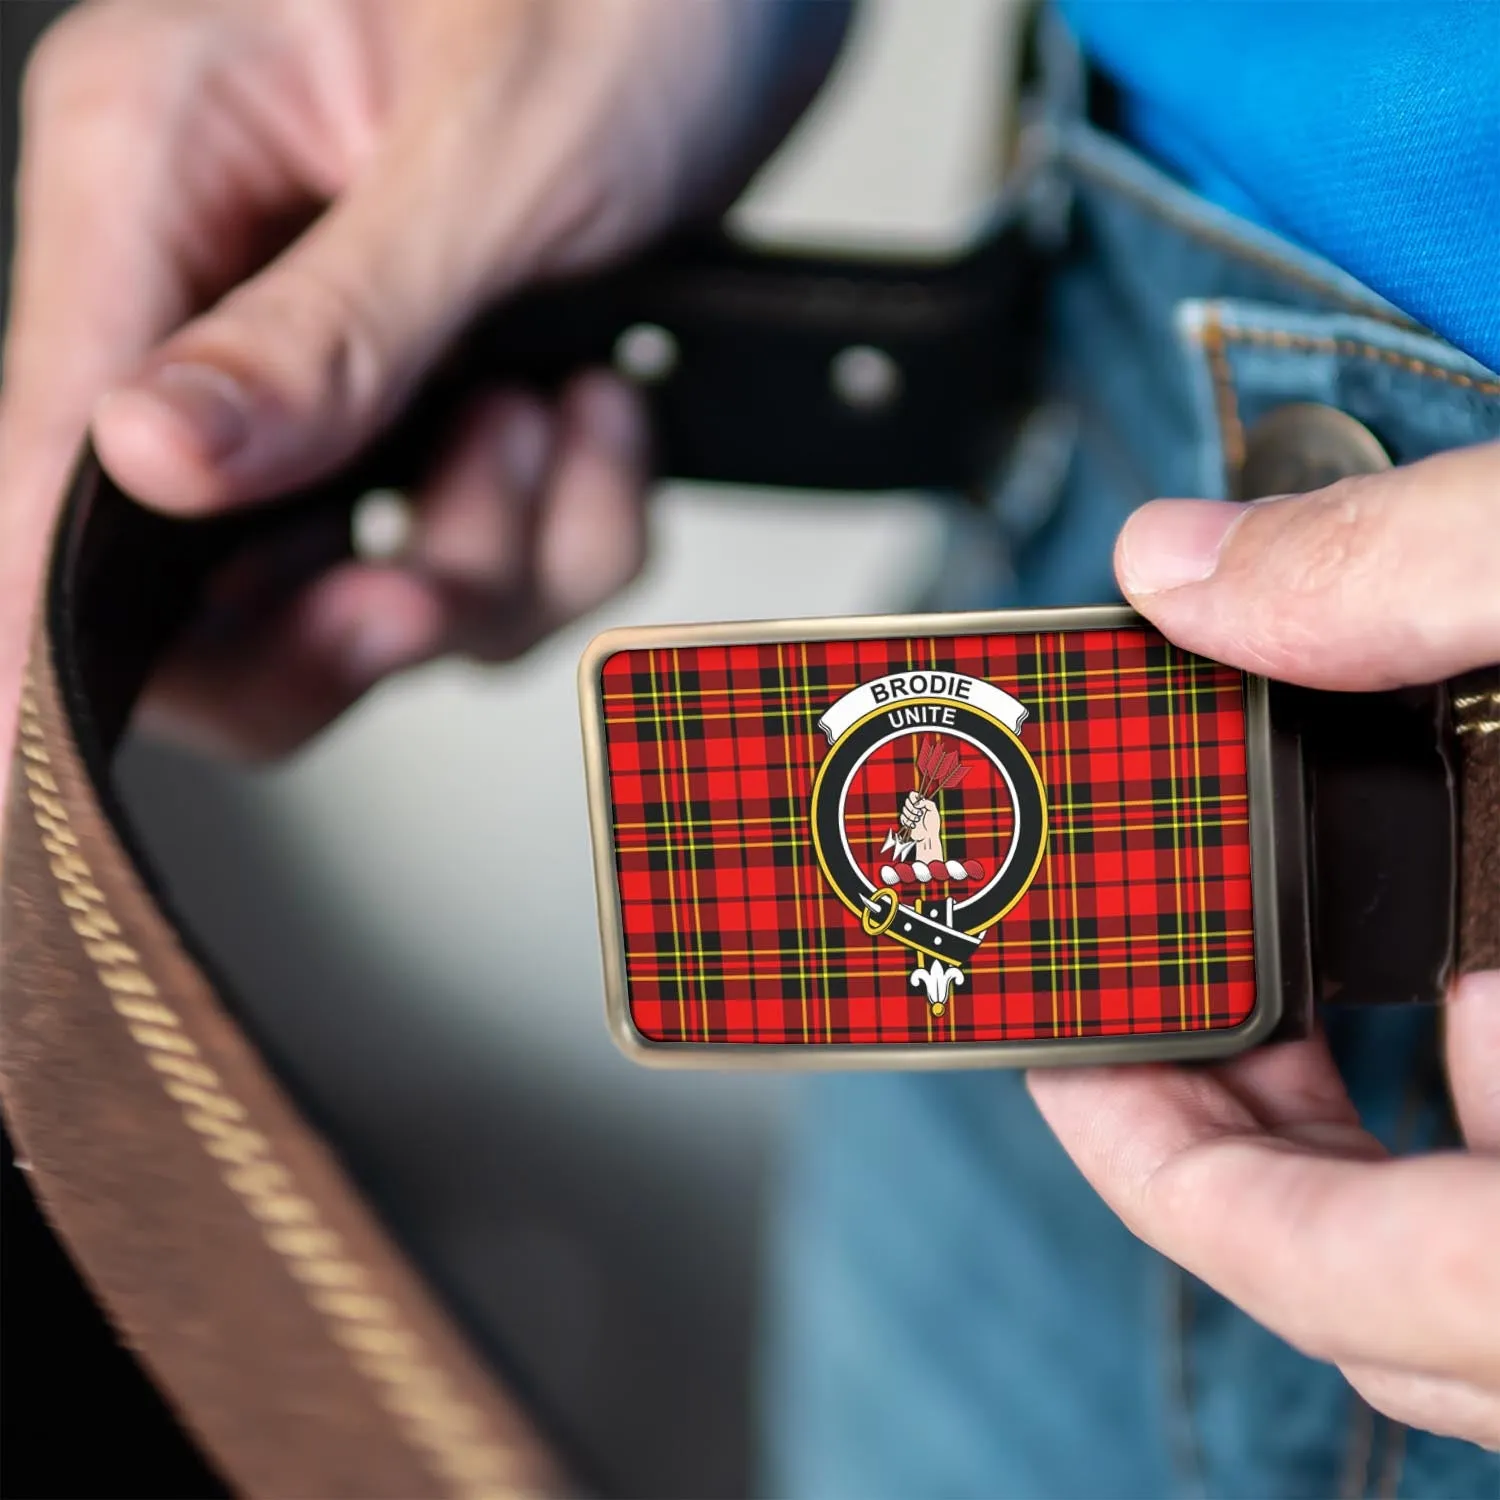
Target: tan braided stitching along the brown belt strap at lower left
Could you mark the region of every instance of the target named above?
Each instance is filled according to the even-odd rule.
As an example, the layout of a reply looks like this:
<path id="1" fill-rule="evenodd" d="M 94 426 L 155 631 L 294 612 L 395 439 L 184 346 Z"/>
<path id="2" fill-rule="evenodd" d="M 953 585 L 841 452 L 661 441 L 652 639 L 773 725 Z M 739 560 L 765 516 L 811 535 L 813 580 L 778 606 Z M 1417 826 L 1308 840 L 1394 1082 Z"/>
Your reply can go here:
<path id="1" fill-rule="evenodd" d="M 218 1072 L 198 1060 L 200 1047 L 176 1011 L 159 999 L 154 981 L 140 966 L 140 954 L 123 940 L 123 928 L 80 852 L 50 770 L 52 758 L 30 674 L 21 699 L 20 752 L 32 814 L 69 922 L 110 1004 L 166 1095 L 182 1107 L 183 1124 L 214 1161 L 230 1164 L 224 1182 L 426 1467 L 465 1500 L 519 1496 L 516 1455 L 484 1436 L 471 1436 L 483 1426 L 483 1418 L 456 1398 L 442 1372 L 422 1358 L 418 1338 L 402 1326 L 392 1302 L 362 1290 L 369 1280 L 364 1268 L 320 1222 L 316 1206 L 296 1191 L 291 1172 L 274 1158 L 270 1142 L 249 1126 L 249 1110 L 224 1088 Z"/>

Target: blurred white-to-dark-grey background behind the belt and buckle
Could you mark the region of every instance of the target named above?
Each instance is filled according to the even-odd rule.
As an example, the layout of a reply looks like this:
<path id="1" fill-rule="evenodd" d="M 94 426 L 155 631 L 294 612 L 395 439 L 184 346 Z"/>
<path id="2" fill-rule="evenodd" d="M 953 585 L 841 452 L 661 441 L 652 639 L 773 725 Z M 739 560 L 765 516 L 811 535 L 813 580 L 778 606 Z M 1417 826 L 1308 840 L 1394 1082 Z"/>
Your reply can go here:
<path id="1" fill-rule="evenodd" d="M 956 248 L 993 183 L 1012 30 L 1006 0 L 866 0 L 738 225 Z M 788 1086 L 645 1072 L 608 1040 L 576 662 L 606 624 L 903 608 L 939 530 L 912 495 L 668 486 L 645 576 L 524 662 L 412 674 L 278 770 L 126 762 L 255 1024 L 450 1296 L 630 1492 L 747 1482 Z"/>

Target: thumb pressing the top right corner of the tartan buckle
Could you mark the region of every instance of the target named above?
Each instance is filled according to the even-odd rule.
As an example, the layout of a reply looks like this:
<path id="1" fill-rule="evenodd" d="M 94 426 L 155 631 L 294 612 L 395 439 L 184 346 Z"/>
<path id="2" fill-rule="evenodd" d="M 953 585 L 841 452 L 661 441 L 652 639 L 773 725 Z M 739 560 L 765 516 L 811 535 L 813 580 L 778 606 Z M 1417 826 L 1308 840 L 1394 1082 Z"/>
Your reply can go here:
<path id="1" fill-rule="evenodd" d="M 1114 561 L 1190 651 L 1310 687 L 1438 681 L 1500 658 L 1500 446 L 1252 506 L 1155 501 Z"/>

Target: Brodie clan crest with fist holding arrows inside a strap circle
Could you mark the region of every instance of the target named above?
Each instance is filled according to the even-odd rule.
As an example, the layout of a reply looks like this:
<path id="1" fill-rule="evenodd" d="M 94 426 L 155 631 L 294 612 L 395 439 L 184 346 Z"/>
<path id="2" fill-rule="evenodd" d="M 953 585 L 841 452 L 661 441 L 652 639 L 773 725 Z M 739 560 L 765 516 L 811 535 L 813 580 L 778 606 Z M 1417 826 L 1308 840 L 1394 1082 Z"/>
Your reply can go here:
<path id="1" fill-rule="evenodd" d="M 866 933 L 916 954 L 910 984 L 933 1016 L 1041 866 L 1047 798 L 1026 717 L 982 678 L 909 670 L 862 682 L 818 722 L 818 864 Z"/>

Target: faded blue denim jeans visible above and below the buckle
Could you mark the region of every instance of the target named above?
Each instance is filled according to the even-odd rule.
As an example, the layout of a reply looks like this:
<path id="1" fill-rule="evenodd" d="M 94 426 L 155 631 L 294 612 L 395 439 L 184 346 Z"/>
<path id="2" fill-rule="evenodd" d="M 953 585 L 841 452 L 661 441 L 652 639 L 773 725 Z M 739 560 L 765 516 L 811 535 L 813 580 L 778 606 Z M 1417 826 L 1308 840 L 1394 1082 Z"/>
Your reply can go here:
<path id="1" fill-rule="evenodd" d="M 1032 471 L 992 518 L 1012 580 L 945 608 L 1114 597 L 1131 507 L 1222 495 L 1287 402 L 1348 411 L 1396 462 L 1500 435 L 1492 376 L 1347 276 L 1086 124 L 1059 138 L 1078 248 Z M 1326 1022 L 1392 1149 L 1452 1143 L 1431 1011 Z M 1500 1456 L 1376 1414 L 1132 1239 L 1014 1074 L 802 1082 L 768 1308 L 776 1500 L 1500 1496 Z"/>

